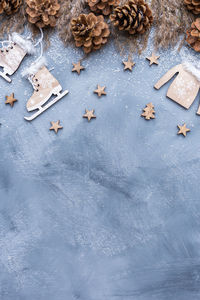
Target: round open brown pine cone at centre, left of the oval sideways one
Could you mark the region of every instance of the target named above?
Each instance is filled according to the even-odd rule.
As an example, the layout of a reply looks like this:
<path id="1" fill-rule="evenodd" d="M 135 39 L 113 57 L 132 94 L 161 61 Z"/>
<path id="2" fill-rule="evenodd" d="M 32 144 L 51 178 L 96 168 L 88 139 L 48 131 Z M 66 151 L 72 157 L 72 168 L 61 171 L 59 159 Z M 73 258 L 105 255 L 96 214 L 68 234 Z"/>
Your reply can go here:
<path id="1" fill-rule="evenodd" d="M 76 47 L 83 46 L 85 53 L 100 49 L 102 45 L 107 43 L 107 38 L 110 35 L 104 17 L 102 15 L 95 16 L 93 13 L 80 14 L 78 18 L 73 18 L 71 30 Z"/>

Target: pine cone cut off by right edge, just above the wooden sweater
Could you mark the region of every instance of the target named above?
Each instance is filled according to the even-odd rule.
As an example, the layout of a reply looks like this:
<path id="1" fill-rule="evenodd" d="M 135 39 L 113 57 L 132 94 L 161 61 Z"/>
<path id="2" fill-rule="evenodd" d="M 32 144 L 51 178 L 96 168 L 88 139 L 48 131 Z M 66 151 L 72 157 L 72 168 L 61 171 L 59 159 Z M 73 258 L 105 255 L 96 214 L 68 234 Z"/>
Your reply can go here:
<path id="1" fill-rule="evenodd" d="M 197 52 L 200 52 L 200 18 L 192 23 L 187 31 L 186 42 Z"/>

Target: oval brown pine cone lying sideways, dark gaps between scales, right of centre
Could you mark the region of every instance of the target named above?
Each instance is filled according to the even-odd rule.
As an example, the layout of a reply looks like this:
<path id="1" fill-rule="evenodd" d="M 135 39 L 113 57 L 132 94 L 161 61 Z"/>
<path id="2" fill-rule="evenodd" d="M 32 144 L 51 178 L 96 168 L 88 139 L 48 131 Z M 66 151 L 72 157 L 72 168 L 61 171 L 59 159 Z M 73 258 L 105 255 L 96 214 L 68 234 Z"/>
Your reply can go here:
<path id="1" fill-rule="evenodd" d="M 110 16 L 114 26 L 130 34 L 144 33 L 153 23 L 151 9 L 144 0 L 129 0 L 118 6 Z"/>

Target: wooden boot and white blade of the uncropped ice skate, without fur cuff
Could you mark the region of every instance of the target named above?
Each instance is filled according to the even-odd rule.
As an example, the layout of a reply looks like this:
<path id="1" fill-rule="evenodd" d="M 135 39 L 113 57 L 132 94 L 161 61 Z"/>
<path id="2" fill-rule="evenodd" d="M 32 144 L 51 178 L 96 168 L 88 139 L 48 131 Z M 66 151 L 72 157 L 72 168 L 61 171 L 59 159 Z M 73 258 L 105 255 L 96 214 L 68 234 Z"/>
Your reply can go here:
<path id="1" fill-rule="evenodd" d="M 68 94 L 67 90 L 61 92 L 62 86 L 45 66 L 41 67 L 35 74 L 29 76 L 28 79 L 33 85 L 34 93 L 28 100 L 26 108 L 29 112 L 34 110 L 37 110 L 37 112 L 30 117 L 24 117 L 27 121 L 34 120 Z M 53 95 L 56 97 L 49 101 Z M 46 102 L 48 103 L 44 105 Z"/>

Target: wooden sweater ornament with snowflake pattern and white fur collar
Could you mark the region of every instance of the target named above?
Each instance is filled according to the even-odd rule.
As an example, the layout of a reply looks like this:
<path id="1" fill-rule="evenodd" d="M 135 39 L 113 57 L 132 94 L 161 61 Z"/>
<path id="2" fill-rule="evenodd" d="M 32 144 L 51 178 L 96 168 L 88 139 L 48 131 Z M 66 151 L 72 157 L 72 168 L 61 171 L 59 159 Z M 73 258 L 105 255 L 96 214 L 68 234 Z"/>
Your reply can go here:
<path id="1" fill-rule="evenodd" d="M 167 97 L 188 109 L 194 102 L 200 88 L 200 69 L 190 63 L 182 63 L 170 69 L 154 86 L 160 89 L 175 74 L 174 79 L 167 91 Z M 200 115 L 200 106 L 197 114 Z"/>

